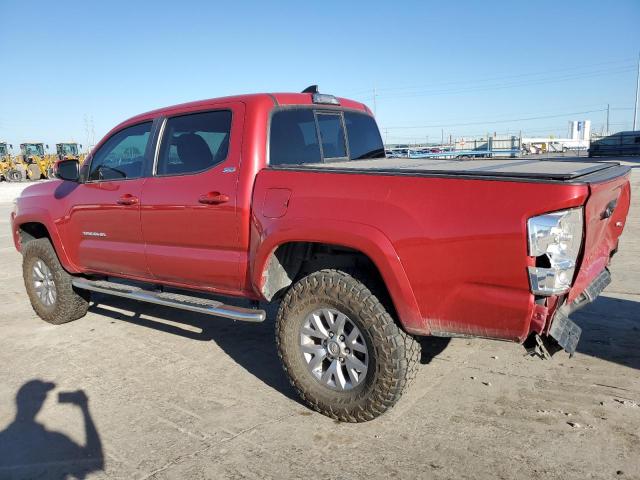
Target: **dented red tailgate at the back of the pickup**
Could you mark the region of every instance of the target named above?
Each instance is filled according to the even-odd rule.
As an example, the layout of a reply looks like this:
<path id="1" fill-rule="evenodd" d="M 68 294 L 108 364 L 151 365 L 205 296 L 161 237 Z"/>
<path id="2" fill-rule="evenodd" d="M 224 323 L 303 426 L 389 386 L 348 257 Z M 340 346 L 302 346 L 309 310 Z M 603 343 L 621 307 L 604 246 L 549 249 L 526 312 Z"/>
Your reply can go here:
<path id="1" fill-rule="evenodd" d="M 608 265 L 611 252 L 616 249 L 622 234 L 630 200 L 628 173 L 607 182 L 589 185 L 589 197 L 584 209 L 582 261 L 576 281 L 569 291 L 568 303 L 573 302 Z"/>

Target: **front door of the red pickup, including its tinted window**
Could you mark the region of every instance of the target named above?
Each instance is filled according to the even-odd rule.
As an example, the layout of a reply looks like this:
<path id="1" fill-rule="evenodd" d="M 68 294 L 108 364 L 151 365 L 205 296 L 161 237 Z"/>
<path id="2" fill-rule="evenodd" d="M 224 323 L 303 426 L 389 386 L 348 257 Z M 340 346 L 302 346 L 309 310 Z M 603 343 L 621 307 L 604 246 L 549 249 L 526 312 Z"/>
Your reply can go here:
<path id="1" fill-rule="evenodd" d="M 62 224 L 65 244 L 83 268 L 148 276 L 139 199 L 152 125 L 144 122 L 114 133 L 88 161 L 84 183 L 64 194 L 71 205 Z"/>

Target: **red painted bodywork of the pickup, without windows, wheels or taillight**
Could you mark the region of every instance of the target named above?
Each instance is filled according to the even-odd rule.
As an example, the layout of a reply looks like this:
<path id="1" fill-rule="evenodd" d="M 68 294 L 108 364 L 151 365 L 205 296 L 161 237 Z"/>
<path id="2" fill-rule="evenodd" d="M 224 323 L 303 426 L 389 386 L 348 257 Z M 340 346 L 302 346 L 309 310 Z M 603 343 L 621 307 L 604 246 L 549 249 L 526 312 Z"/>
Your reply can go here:
<path id="1" fill-rule="evenodd" d="M 582 265 L 569 299 L 604 268 L 622 232 L 616 223 L 628 212 L 626 177 L 587 186 L 268 169 L 274 100 L 308 105 L 311 95 L 205 100 L 123 122 L 97 148 L 141 121 L 231 109 L 229 154 L 192 175 L 33 185 L 12 215 L 16 247 L 19 225 L 40 222 L 70 272 L 259 299 L 265 265 L 279 245 L 331 243 L 374 262 L 407 330 L 522 341 L 544 330 L 557 304 L 551 297 L 536 306 L 530 293 L 527 219 L 586 205 Z M 615 198 L 614 214 L 601 220 Z"/>

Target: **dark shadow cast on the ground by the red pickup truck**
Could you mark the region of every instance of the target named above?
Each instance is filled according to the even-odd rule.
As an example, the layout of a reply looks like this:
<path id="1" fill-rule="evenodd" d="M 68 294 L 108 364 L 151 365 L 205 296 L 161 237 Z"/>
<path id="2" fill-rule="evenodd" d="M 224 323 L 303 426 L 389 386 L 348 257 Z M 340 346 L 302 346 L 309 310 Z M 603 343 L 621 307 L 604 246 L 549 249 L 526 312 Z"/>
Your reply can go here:
<path id="1" fill-rule="evenodd" d="M 277 354 L 274 339 L 277 306 L 269 306 L 267 320 L 255 324 L 106 295 L 95 295 L 94 299 L 96 303 L 91 311 L 97 314 L 190 340 L 215 342 L 248 373 L 301 403 L 282 370 Z M 238 304 L 246 306 L 242 302 Z M 105 307 L 115 307 L 125 312 Z M 595 303 L 574 313 L 572 319 L 582 328 L 578 352 L 640 369 L 640 350 L 637 348 L 640 343 L 640 303 L 600 297 Z M 194 331 L 193 327 L 199 331 Z M 421 338 L 421 364 L 429 364 L 446 349 L 449 342 L 449 338 Z"/>

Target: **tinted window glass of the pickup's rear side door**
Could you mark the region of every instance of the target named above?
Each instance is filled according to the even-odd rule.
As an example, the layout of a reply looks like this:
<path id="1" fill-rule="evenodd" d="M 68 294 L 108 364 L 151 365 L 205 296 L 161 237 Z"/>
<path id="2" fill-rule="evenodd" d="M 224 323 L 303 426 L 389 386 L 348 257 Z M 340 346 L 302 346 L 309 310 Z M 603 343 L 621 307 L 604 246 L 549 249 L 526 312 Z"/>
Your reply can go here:
<path id="1" fill-rule="evenodd" d="M 185 175 L 223 162 L 229 151 L 231 112 L 193 113 L 169 118 L 156 175 Z"/>

